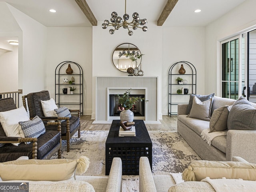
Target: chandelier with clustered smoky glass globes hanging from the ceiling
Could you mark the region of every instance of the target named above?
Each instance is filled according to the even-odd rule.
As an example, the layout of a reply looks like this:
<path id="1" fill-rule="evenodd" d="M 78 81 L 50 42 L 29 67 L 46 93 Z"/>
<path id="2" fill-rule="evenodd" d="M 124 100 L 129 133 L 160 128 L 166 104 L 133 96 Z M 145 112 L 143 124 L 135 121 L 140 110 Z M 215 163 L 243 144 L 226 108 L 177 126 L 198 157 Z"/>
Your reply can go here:
<path id="1" fill-rule="evenodd" d="M 132 36 L 133 32 L 130 30 L 132 28 L 133 30 L 137 30 L 137 28 L 141 28 L 143 31 L 147 31 L 148 27 L 143 26 L 148 23 L 147 19 L 140 19 L 139 14 L 134 12 L 132 14 L 132 22 L 128 22 L 129 15 L 126 14 L 126 0 L 125 0 L 125 9 L 124 9 L 124 16 L 123 19 L 117 15 L 117 13 L 114 11 L 111 14 L 111 18 L 109 22 L 108 20 L 104 20 L 104 23 L 102 23 L 102 28 L 106 29 L 108 26 L 113 26 L 114 29 L 110 29 L 109 33 L 114 34 L 115 30 L 120 29 L 120 27 L 123 27 L 124 29 L 128 29 L 128 35 Z M 140 27 L 143 26 L 143 27 Z"/>

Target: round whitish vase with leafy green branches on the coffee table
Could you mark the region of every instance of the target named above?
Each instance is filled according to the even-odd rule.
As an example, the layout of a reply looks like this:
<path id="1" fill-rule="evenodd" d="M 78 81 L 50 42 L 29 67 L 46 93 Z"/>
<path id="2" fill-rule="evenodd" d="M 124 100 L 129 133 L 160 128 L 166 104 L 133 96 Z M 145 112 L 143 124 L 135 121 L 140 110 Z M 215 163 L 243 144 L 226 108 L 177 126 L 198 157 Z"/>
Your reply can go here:
<path id="1" fill-rule="evenodd" d="M 131 97 L 131 88 L 127 90 L 123 95 L 117 94 L 116 96 L 118 97 L 118 104 L 121 108 L 124 108 L 120 112 L 120 120 L 121 121 L 127 121 L 127 122 L 132 122 L 134 118 L 133 112 L 130 110 L 131 108 L 134 107 L 134 105 L 140 100 L 145 100 L 145 98 L 141 97 Z"/>

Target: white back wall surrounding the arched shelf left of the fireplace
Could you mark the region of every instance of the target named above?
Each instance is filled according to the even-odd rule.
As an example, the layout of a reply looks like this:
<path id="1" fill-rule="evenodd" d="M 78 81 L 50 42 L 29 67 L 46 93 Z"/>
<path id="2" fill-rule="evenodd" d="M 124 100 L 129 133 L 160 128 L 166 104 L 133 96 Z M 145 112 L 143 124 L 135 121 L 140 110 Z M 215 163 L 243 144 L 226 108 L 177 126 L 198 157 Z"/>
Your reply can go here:
<path id="1" fill-rule="evenodd" d="M 48 27 L 46 90 L 55 98 L 55 69 L 63 61 L 78 63 L 84 73 L 84 114 L 92 113 L 92 28 Z"/>

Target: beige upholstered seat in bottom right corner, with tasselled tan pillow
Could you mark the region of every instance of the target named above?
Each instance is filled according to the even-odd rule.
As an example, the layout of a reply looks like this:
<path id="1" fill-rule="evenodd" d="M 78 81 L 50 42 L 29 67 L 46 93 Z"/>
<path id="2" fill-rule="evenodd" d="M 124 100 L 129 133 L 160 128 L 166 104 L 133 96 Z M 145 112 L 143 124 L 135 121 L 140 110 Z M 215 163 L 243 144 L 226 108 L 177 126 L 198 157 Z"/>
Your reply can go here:
<path id="1" fill-rule="evenodd" d="M 241 162 L 241 163 L 249 164 L 248 162 L 246 162 L 244 159 L 240 157 L 234 157 L 233 160 L 239 161 L 234 163 L 239 164 Z M 251 166 L 250 170 L 255 173 L 256 171 L 255 164 L 252 164 L 250 166 Z M 244 169 L 244 168 L 241 168 L 241 169 Z M 204 171 L 202 172 L 204 174 Z M 222 173 L 220 175 L 222 175 Z M 210 178 L 212 177 L 210 173 L 209 173 L 209 176 Z M 242 176 L 242 174 L 239 176 Z M 217 184 L 218 186 L 217 188 L 216 188 L 216 185 L 212 186 L 212 184 L 210 184 L 210 182 L 212 181 L 214 181 Z M 251 191 L 255 191 L 256 182 L 254 180 L 249 181 L 249 180 L 241 180 L 241 179 L 228 179 L 228 178 L 224 179 L 222 178 L 222 176 L 220 176 L 220 179 L 215 178 L 211 180 L 209 178 L 206 178 L 206 179 L 203 179 L 202 181 L 183 182 L 182 174 L 153 175 L 150 169 L 148 158 L 141 157 L 139 185 L 140 185 L 140 192 L 226 192 L 226 191 L 239 191 L 239 192 L 250 191 L 251 192 Z M 234 190 L 233 187 L 236 188 L 236 190 Z"/>

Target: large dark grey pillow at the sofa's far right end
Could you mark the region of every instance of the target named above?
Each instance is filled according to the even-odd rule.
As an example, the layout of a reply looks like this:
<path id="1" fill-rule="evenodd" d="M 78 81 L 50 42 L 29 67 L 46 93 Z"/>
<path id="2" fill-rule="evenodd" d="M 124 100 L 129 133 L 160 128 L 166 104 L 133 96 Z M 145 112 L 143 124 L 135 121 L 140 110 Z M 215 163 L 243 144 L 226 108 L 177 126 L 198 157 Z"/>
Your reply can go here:
<path id="1" fill-rule="evenodd" d="M 228 115 L 228 130 L 256 130 L 256 109 L 242 96 L 234 102 Z"/>

